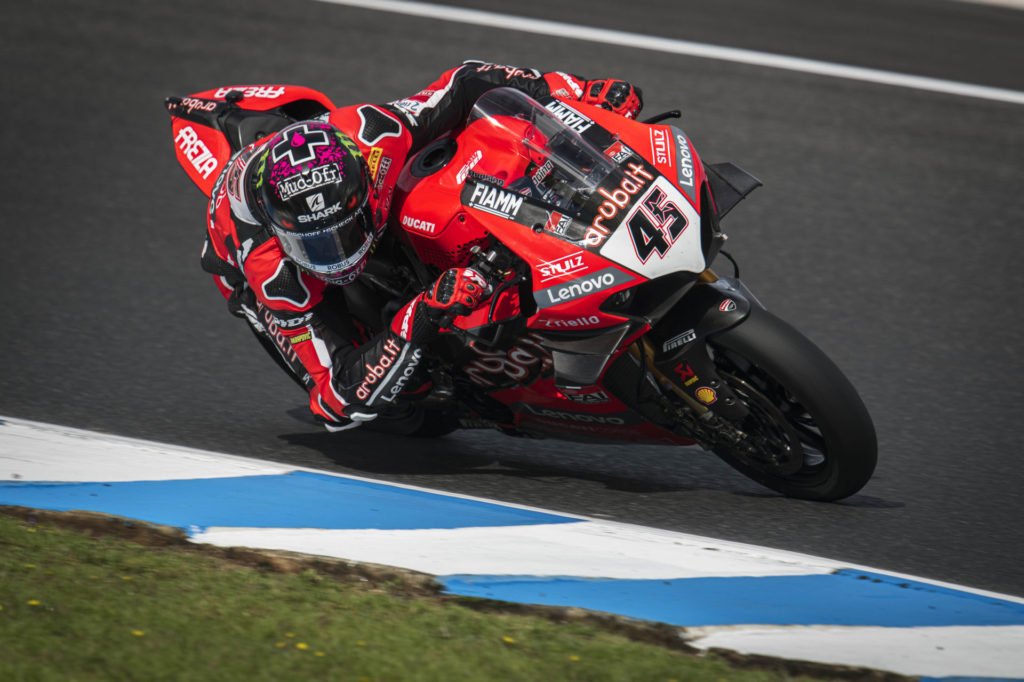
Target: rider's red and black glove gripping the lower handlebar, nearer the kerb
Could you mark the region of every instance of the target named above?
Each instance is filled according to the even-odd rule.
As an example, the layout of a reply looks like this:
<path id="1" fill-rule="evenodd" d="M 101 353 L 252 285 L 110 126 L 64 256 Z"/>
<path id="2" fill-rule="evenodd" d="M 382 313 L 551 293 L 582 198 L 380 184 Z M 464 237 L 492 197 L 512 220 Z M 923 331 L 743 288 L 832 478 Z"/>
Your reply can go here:
<path id="1" fill-rule="evenodd" d="M 391 331 L 407 341 L 422 344 L 451 318 L 475 309 L 488 289 L 487 281 L 473 268 L 450 268 L 398 310 Z"/>

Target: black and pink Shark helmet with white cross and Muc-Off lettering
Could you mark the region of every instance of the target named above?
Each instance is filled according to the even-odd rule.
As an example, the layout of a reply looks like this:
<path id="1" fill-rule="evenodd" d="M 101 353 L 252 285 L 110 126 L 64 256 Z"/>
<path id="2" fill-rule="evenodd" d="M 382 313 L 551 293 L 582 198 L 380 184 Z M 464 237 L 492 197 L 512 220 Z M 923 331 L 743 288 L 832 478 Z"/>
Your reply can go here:
<path id="1" fill-rule="evenodd" d="M 367 177 L 350 137 L 300 121 L 264 144 L 250 182 L 285 254 L 315 278 L 347 285 L 362 272 L 377 237 Z"/>

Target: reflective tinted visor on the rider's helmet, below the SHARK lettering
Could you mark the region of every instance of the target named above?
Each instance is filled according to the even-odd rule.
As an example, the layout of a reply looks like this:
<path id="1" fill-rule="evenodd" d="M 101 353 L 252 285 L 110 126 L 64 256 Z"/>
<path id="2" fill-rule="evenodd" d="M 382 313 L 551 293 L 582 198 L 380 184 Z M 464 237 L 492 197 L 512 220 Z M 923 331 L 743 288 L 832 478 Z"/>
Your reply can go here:
<path id="1" fill-rule="evenodd" d="M 374 243 L 369 197 L 340 222 L 311 232 L 293 232 L 270 223 L 281 246 L 297 265 L 329 279 L 361 265 Z M 359 268 L 361 269 L 361 267 Z"/>

